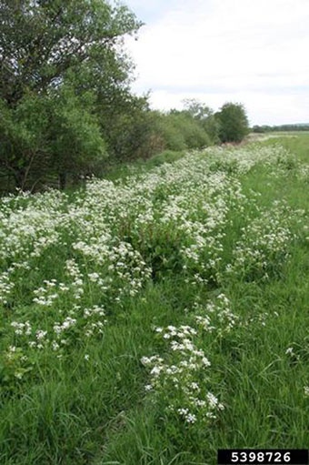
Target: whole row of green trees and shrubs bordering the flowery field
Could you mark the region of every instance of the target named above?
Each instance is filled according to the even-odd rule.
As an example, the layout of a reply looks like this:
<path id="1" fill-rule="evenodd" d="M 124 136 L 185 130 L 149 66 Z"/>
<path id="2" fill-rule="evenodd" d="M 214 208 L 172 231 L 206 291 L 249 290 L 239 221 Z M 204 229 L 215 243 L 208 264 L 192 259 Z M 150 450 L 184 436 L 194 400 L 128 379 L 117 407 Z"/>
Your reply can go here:
<path id="1" fill-rule="evenodd" d="M 187 100 L 163 113 L 130 88 L 125 35 L 141 27 L 107 0 L 0 0 L 0 185 L 64 188 L 106 160 L 239 142 L 244 106 Z"/>

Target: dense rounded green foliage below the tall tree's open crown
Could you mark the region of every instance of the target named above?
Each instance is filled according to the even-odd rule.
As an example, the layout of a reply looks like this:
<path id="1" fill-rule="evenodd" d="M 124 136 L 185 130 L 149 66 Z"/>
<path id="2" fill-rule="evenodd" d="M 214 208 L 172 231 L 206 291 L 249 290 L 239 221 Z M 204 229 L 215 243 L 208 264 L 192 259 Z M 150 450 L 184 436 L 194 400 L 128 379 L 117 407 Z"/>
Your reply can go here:
<path id="1" fill-rule="evenodd" d="M 56 95 L 27 93 L 13 108 L 2 101 L 0 160 L 16 187 L 32 189 L 46 177 L 89 172 L 106 157 L 92 102 L 65 86 Z"/>

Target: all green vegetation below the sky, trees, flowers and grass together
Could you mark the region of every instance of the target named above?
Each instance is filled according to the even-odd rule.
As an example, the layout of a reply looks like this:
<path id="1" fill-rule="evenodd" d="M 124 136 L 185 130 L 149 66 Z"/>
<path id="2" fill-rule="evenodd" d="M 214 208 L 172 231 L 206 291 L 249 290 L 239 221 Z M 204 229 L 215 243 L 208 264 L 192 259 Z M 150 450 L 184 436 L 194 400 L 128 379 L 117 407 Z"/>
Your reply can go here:
<path id="1" fill-rule="evenodd" d="M 306 447 L 309 126 L 152 110 L 121 3 L 0 21 L 1 464 Z"/>

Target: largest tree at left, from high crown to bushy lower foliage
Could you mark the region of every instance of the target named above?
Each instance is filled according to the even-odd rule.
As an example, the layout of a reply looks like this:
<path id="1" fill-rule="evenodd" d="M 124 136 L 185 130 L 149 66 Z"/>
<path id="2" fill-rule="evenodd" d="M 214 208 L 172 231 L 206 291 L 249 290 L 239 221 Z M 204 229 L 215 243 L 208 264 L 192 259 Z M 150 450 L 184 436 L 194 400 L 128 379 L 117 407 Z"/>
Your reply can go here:
<path id="1" fill-rule="evenodd" d="M 107 0 L 0 0 L 0 21 L 1 171 L 25 188 L 40 166 L 64 178 L 105 157 L 98 106 L 127 92 L 135 15 Z"/>

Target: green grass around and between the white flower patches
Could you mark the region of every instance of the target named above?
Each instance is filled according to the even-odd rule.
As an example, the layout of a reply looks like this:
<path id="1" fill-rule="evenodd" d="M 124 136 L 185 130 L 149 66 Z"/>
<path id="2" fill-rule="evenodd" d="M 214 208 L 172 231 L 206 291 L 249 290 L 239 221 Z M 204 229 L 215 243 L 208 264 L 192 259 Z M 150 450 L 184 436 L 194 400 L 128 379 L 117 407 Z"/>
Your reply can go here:
<path id="1" fill-rule="evenodd" d="M 17 359 L 7 362 L 5 369 L 2 361 L 0 463 L 197 465 L 214 464 L 219 448 L 307 447 L 309 398 L 304 395 L 304 386 L 309 385 L 309 242 L 305 227 L 309 177 L 300 176 L 298 167 L 309 164 L 309 136 L 269 140 L 261 147 L 278 143 L 293 154 L 290 165 L 277 170 L 257 163 L 236 176 L 246 198 L 244 211 L 239 210 L 242 203 L 230 207 L 221 264 L 216 268 L 220 276 L 208 277 L 208 284 L 194 284 L 194 267 L 190 274 L 179 263 L 179 248 L 188 239 L 180 237 L 175 226 L 164 228 L 154 219 L 153 228 L 135 229 L 135 222 L 130 222 L 135 220 L 130 217 L 117 219 L 115 234 L 138 249 L 157 272 L 145 279 L 135 296 L 125 295 L 119 303 L 113 300 L 114 294 L 109 297 L 91 281 L 86 282 L 83 306 L 105 306 L 103 335 L 85 338 L 83 329 L 76 329 L 61 358 L 49 347 L 23 349 L 30 370 L 22 379 L 15 377 L 20 363 Z M 293 163 L 294 158 L 299 164 Z M 177 159 L 181 161 L 182 154 L 157 156 L 142 169 L 137 164 L 135 171 L 143 177 L 164 162 L 176 170 Z M 109 179 L 120 182 L 131 176 L 130 170 L 123 169 Z M 173 189 L 164 185 L 157 188 L 154 205 L 173 196 Z M 269 252 L 268 278 L 257 268 L 225 274 L 223 264 L 231 262 L 237 242 L 245 239 L 242 228 L 261 212 L 271 211 L 275 200 L 283 199 L 293 210 L 304 210 L 290 225 L 294 236 L 287 246 L 289 256 Z M 67 211 L 66 203 L 63 211 Z M 282 217 L 283 226 L 286 221 Z M 75 233 L 65 234 L 66 245 L 55 242 L 32 259 L 30 270 L 15 271 L 16 286 L 2 310 L 2 349 L 19 343 L 6 322 L 12 320 L 12 312 L 13 319 L 29 319 L 35 328 L 42 328 L 45 321 L 49 328 L 50 321 L 60 318 L 62 308 L 69 311 L 70 295 L 62 298 L 58 307 L 53 304 L 38 309 L 32 302 L 33 290 L 42 286 L 44 279 L 66 282 L 65 259 L 77 256 L 71 247 Z M 85 257 L 76 260 L 83 273 L 90 270 L 108 276 L 105 264 L 94 266 Z M 11 263 L 3 259 L 2 269 Z M 197 270 L 204 277 L 204 271 Z M 201 306 L 208 300 L 216 302 L 222 292 L 242 324 L 230 331 L 223 326 L 220 334 L 202 331 L 194 344 L 212 363 L 205 369 L 209 378 L 203 378 L 203 372 L 198 374 L 201 385 L 207 384 L 219 397 L 224 410 L 215 420 L 189 425 L 166 413 L 164 402 L 170 401 L 173 392 L 163 389 L 155 401 L 145 392 L 150 374 L 141 359 L 160 354 L 173 361 L 168 345 L 156 337 L 154 327 L 193 326 L 196 302 Z M 293 348 L 292 354 L 285 353 L 288 348 Z"/>

